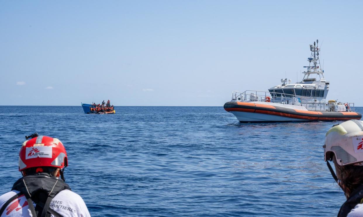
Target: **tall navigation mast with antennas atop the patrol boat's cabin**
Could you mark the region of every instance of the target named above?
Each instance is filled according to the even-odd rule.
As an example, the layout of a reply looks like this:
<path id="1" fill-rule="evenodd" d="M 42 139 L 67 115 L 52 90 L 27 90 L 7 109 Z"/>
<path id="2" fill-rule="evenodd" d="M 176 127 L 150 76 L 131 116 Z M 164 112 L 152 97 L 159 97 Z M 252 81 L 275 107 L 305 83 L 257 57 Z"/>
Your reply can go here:
<path id="1" fill-rule="evenodd" d="M 304 78 L 302 81 L 309 81 L 309 76 L 312 74 L 319 75 L 319 80 L 324 78 L 324 70 L 322 70 L 319 60 L 319 51 L 320 48 L 318 47 L 319 40 L 316 41 L 316 44 L 314 42 L 313 44 L 310 44 L 310 51 L 311 55 L 309 58 L 307 58 L 307 61 L 309 61 L 309 66 L 304 66 L 304 68 L 307 68 L 306 72 L 303 72 Z"/>

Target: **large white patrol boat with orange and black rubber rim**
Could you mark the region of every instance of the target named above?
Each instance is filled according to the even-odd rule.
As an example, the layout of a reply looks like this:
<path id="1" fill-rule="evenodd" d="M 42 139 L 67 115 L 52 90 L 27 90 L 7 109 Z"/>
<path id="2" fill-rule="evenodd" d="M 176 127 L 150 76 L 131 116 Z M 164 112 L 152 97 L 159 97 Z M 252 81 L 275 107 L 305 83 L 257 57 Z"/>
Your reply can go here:
<path id="1" fill-rule="evenodd" d="M 354 103 L 326 101 L 329 81 L 319 61 L 318 40 L 310 44 L 309 66 L 301 82 L 291 84 L 287 78 L 268 92 L 246 90 L 232 92 L 232 100 L 224 104 L 241 123 L 288 122 L 288 121 L 335 121 L 361 119 L 355 112 Z"/>

